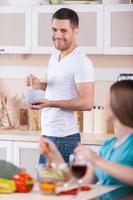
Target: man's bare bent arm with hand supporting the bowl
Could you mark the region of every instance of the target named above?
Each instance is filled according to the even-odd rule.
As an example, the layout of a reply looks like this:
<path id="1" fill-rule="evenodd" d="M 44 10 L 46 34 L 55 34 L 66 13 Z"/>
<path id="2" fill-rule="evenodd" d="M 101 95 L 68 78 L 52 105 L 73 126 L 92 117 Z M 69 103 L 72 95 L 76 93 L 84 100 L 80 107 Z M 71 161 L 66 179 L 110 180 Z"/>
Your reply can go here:
<path id="1" fill-rule="evenodd" d="M 76 85 L 79 96 L 69 100 L 52 101 L 43 99 L 39 105 L 30 106 L 33 109 L 58 107 L 70 110 L 91 110 L 94 102 L 94 82 L 78 83 Z"/>

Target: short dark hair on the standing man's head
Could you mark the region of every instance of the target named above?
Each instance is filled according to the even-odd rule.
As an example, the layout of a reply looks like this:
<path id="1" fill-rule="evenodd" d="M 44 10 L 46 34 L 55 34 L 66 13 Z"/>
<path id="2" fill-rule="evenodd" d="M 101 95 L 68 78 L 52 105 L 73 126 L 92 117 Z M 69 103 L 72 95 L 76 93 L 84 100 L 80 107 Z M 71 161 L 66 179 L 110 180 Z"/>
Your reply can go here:
<path id="1" fill-rule="evenodd" d="M 61 8 L 57 10 L 52 16 L 52 20 L 53 19 L 59 19 L 59 20 L 68 19 L 70 20 L 70 24 L 73 25 L 74 27 L 79 26 L 78 14 L 74 10 L 69 8 Z"/>

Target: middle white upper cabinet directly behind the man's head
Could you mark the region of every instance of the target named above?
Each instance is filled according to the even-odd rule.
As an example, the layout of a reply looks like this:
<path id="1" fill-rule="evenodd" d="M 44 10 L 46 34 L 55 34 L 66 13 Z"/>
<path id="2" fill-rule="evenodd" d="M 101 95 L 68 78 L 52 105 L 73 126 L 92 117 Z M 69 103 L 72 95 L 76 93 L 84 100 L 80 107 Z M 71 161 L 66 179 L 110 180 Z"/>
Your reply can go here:
<path id="1" fill-rule="evenodd" d="M 74 9 L 79 15 L 78 45 L 85 53 L 103 53 L 102 5 L 48 5 L 34 6 L 32 12 L 32 52 L 51 53 L 51 17 L 61 7 Z"/>

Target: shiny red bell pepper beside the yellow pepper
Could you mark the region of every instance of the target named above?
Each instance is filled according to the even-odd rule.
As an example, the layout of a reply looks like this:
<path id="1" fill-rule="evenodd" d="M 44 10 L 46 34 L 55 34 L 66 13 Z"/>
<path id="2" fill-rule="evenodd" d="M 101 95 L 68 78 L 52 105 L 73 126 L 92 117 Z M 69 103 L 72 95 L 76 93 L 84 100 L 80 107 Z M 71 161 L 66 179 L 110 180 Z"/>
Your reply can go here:
<path id="1" fill-rule="evenodd" d="M 17 192 L 30 192 L 34 186 L 33 178 L 26 172 L 20 172 L 13 176 Z"/>

